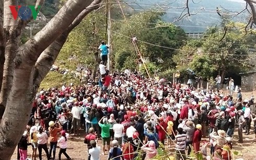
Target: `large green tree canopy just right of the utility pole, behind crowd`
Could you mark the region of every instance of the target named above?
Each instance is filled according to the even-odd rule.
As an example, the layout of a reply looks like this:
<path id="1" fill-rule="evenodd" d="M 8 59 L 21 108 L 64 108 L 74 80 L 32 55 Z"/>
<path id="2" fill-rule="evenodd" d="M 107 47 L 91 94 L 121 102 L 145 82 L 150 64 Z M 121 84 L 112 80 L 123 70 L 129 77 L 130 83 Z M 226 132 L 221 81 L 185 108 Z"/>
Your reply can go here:
<path id="1" fill-rule="evenodd" d="M 112 25 L 113 30 L 120 33 L 113 32 L 113 52 L 116 68 L 124 69 L 124 59 L 130 59 L 131 57 L 123 53 L 131 53 L 135 61 L 140 58 L 136 56 L 135 47 L 131 43 L 132 40 L 129 39 L 132 38 L 132 35 L 139 40 L 137 46 L 145 59 L 163 69 L 173 66 L 171 57 L 174 54 L 174 50 L 159 46 L 178 48 L 187 40 L 187 36 L 181 28 L 161 21 L 162 15 L 161 12 L 156 10 L 144 11 L 129 17 L 127 23 L 118 21 Z M 130 68 L 133 66 L 125 67 Z"/>

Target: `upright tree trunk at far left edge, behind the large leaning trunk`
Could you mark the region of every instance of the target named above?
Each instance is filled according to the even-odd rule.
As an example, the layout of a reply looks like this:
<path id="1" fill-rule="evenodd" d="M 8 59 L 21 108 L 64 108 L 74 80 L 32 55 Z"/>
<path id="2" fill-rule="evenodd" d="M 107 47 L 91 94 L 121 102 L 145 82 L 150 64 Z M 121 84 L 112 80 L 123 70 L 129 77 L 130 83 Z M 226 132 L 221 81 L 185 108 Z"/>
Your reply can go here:
<path id="1" fill-rule="evenodd" d="M 10 92 L 11 85 L 13 83 L 13 69 L 14 69 L 13 60 L 18 51 L 18 45 L 19 45 L 19 40 L 21 35 L 21 30 L 20 29 L 17 30 L 18 22 L 13 19 L 13 16 L 11 15 L 11 12 L 9 9 L 10 5 L 16 5 L 16 4 L 17 2 L 14 0 L 4 1 L 4 6 L 6 7 L 4 7 L 4 11 L 3 11 L 4 13 L 3 31 L 0 31 L 2 32 L 0 34 L 4 34 L 4 36 L 2 37 L 3 38 L 2 43 L 4 42 L 4 45 L 5 45 L 5 48 L 3 47 L 1 48 L 1 50 L 4 51 L 4 55 L 5 55 L 5 59 L 3 59 L 4 61 L 3 68 L 2 68 L 3 61 L 0 60 L 1 61 L 0 74 L 3 72 L 3 74 L 1 74 L 2 76 L 0 77 L 0 82 L 1 82 L 0 110 L 2 111 L 6 106 L 7 97 Z M 1 28 L 1 25 L 0 25 L 0 28 Z M 1 122 L 1 117 L 3 116 L 2 111 L 0 111 L 0 122 Z"/>

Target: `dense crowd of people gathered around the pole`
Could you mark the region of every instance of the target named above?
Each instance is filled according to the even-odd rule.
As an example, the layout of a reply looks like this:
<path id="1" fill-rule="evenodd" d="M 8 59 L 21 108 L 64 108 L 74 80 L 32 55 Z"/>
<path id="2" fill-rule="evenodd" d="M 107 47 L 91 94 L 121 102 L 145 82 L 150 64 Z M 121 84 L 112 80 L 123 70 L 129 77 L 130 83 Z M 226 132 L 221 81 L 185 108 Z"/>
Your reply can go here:
<path id="1" fill-rule="evenodd" d="M 57 159 L 57 144 L 58 158 L 64 154 L 71 159 L 68 137 L 80 134 L 86 135 L 91 160 L 99 159 L 100 154 L 115 160 L 152 159 L 160 150 L 173 147 L 179 160 L 191 158 L 191 152 L 232 159 L 234 129 L 238 128 L 238 142 L 242 143 L 243 134 L 250 134 L 251 122 L 256 121 L 253 100 L 242 100 L 240 90 L 232 97 L 190 84 L 147 79 L 137 72 L 110 74 L 103 61 L 99 69 L 96 82 L 63 83 L 61 88 L 36 95 L 27 130 L 18 144 L 19 159 L 27 158 L 28 145 L 32 146 L 31 159 L 36 159 L 38 150 L 41 160 L 42 149 L 47 159 Z"/>

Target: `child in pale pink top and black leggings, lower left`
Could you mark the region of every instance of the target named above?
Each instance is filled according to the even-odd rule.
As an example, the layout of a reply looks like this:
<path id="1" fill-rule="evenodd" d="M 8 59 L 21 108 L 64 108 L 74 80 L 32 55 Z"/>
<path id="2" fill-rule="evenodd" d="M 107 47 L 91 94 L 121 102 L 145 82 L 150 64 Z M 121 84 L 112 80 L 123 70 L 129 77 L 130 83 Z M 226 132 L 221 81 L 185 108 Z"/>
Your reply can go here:
<path id="1" fill-rule="evenodd" d="M 58 140 L 60 144 L 59 160 L 61 160 L 62 153 L 66 156 L 67 160 L 71 159 L 66 153 L 68 136 L 69 134 L 65 130 L 61 131 L 61 138 Z"/>

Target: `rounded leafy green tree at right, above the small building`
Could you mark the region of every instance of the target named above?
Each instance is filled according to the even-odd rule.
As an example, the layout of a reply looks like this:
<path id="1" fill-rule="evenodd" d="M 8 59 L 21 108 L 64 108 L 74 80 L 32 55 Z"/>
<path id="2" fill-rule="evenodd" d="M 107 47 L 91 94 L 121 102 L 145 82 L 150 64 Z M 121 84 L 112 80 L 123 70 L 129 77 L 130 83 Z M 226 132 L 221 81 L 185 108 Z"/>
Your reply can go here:
<path id="1" fill-rule="evenodd" d="M 236 70 L 247 66 L 242 59 L 247 58 L 248 48 L 245 45 L 244 36 L 236 32 L 226 33 L 223 38 L 222 32 L 216 32 L 205 39 L 202 49 L 203 52 L 215 64 L 216 70 Z"/>

